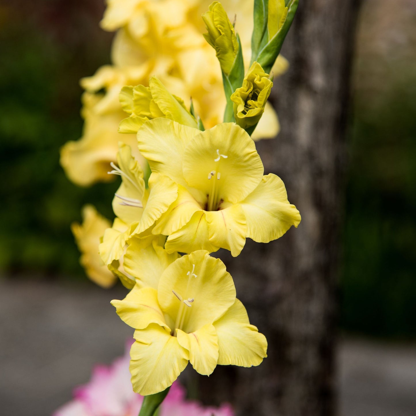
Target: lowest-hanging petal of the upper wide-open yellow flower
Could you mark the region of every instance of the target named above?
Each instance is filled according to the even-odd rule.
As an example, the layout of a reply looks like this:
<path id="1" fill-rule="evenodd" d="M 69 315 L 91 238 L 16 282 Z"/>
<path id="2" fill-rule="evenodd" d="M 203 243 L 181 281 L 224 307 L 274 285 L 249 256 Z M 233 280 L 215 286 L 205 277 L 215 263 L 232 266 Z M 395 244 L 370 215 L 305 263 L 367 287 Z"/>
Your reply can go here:
<path id="1" fill-rule="evenodd" d="M 208 234 L 211 243 L 230 250 L 233 257 L 238 256 L 245 244 L 247 225 L 240 204 L 230 205 L 219 211 L 206 212 Z"/>

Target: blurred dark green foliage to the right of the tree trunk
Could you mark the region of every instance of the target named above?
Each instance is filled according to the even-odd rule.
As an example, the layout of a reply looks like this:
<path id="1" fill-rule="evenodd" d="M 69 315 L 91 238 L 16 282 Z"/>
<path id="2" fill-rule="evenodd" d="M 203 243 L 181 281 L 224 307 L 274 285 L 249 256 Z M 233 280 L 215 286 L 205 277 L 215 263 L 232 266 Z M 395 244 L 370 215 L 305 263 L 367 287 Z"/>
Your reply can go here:
<path id="1" fill-rule="evenodd" d="M 384 16 L 375 25 L 389 27 Z M 349 331 L 414 338 L 416 37 L 404 25 L 390 30 L 372 43 L 362 33 L 355 62 L 341 321 Z"/>

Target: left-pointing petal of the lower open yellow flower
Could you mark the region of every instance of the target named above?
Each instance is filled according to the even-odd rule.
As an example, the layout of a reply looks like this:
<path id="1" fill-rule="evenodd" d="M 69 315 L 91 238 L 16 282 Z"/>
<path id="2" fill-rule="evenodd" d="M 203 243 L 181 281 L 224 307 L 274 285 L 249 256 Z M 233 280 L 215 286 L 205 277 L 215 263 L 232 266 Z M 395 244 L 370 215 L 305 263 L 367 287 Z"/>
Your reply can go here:
<path id="1" fill-rule="evenodd" d="M 134 286 L 123 300 L 112 300 L 117 315 L 127 325 L 135 329 L 144 329 L 149 324 L 158 324 L 171 331 L 163 317 L 157 301 L 157 290 L 153 287 L 140 289 Z"/>

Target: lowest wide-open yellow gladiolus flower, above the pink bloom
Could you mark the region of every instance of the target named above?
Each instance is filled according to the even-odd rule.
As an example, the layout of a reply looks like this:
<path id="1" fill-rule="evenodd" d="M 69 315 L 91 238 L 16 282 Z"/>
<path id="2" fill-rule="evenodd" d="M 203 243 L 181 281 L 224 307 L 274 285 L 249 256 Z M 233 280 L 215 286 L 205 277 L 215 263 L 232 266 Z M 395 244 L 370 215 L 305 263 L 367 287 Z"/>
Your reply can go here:
<path id="1" fill-rule="evenodd" d="M 171 263 L 157 289 L 135 286 L 111 304 L 135 329 L 130 372 L 136 393 L 163 391 L 188 361 L 210 375 L 217 364 L 258 366 L 267 356 L 266 338 L 250 325 L 225 265 L 204 250 Z"/>

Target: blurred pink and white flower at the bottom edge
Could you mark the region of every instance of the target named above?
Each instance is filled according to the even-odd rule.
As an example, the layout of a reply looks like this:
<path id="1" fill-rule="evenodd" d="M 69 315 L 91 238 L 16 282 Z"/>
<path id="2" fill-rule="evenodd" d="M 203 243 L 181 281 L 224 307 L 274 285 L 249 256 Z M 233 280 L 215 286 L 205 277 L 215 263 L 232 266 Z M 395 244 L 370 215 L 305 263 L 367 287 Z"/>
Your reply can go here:
<path id="1" fill-rule="evenodd" d="M 130 383 L 130 349 L 109 365 L 97 365 L 88 384 L 74 390 L 74 400 L 59 408 L 53 416 L 137 416 L 143 396 L 134 393 Z M 159 416 L 234 416 L 229 404 L 204 407 L 185 399 L 186 391 L 178 381 L 172 384 L 161 404 Z"/>

